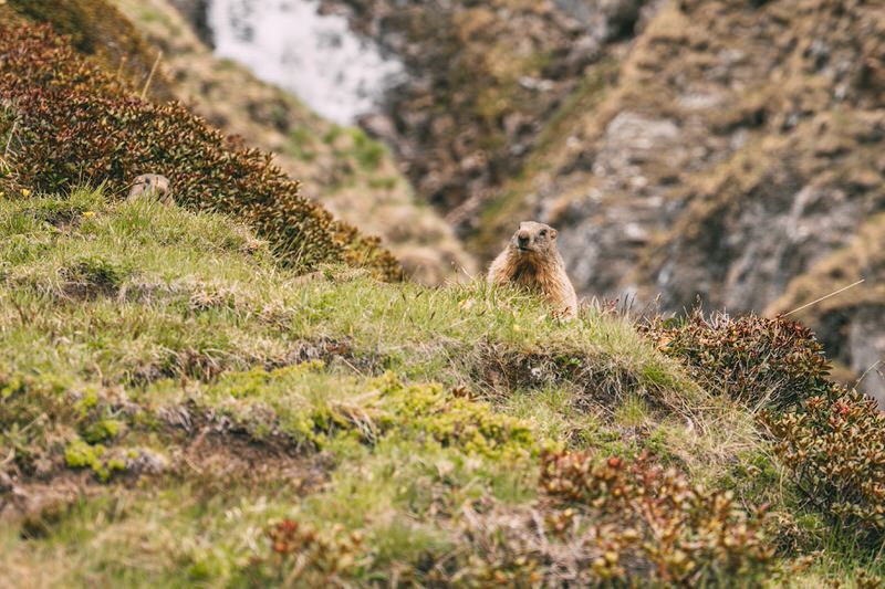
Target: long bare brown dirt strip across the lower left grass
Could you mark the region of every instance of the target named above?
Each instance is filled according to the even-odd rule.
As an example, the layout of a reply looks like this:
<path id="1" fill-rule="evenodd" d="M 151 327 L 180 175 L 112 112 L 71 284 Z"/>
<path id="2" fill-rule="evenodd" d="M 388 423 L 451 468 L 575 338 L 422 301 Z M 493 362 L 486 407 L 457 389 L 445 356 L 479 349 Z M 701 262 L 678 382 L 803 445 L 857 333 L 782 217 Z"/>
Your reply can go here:
<path id="1" fill-rule="evenodd" d="M 178 408 L 167 418 L 171 414 L 179 422 L 166 424 L 165 456 L 140 452 L 110 483 L 102 483 L 88 469 L 61 465 L 41 478 L 0 473 L 0 525 L 19 525 L 24 539 L 44 537 L 77 503 L 139 487 L 148 477 L 157 485 L 169 477 L 186 480 L 207 496 L 223 493 L 232 484 L 260 484 L 267 491 L 277 487 L 305 495 L 320 490 L 334 467 L 330 455 L 278 432 L 257 439 L 243 425 L 206 412 Z"/>

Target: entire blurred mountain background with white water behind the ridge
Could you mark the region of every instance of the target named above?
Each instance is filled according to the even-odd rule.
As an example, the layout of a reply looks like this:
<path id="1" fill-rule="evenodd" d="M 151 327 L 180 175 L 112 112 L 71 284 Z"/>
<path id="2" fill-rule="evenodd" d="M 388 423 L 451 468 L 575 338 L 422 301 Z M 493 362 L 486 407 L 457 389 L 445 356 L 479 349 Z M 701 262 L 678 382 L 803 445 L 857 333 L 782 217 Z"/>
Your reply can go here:
<path id="1" fill-rule="evenodd" d="M 179 98 L 417 280 L 520 220 L 579 292 L 793 317 L 885 398 L 885 4 L 115 0 Z"/>

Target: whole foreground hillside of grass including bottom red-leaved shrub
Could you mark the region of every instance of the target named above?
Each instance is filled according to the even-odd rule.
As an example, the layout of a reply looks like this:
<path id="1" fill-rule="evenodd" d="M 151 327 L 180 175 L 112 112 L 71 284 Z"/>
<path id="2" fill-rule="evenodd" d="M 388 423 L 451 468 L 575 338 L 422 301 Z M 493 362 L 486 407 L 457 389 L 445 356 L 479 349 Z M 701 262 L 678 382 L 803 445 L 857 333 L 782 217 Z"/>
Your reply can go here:
<path id="1" fill-rule="evenodd" d="M 762 336 L 698 357 L 701 324 L 299 275 L 102 190 L 4 198 L 0 242 L 4 586 L 808 587 L 874 554 L 805 504 L 764 399 L 719 388 L 824 387 L 789 329 L 759 371 L 726 353 Z"/>

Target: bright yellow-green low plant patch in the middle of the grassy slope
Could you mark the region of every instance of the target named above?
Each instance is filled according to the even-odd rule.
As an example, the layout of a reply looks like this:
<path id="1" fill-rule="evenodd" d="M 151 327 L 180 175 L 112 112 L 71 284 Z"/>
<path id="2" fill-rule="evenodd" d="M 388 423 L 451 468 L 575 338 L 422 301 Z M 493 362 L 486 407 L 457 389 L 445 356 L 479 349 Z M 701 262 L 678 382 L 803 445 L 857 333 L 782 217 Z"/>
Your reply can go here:
<path id="1" fill-rule="evenodd" d="M 527 422 L 502 416 L 488 403 L 456 397 L 441 385 L 406 385 L 393 372 L 367 381 L 342 382 L 317 372 L 322 368 L 322 362 L 305 362 L 273 371 L 226 375 L 202 402 L 247 420 L 252 435 L 261 438 L 262 431 L 282 428 L 320 449 L 344 448 L 353 440 L 369 445 L 386 440 L 426 440 L 494 459 L 516 460 L 539 452 Z M 346 401 L 308 392 L 321 383 L 343 386 L 344 391 L 353 389 L 365 400 L 357 409 Z M 288 390 L 291 396 L 292 386 L 304 390 L 303 397 L 296 393 L 279 402 L 278 391 Z M 230 398 L 236 401 L 227 401 Z M 278 422 L 250 421 L 253 403 L 262 402 L 278 408 Z"/>

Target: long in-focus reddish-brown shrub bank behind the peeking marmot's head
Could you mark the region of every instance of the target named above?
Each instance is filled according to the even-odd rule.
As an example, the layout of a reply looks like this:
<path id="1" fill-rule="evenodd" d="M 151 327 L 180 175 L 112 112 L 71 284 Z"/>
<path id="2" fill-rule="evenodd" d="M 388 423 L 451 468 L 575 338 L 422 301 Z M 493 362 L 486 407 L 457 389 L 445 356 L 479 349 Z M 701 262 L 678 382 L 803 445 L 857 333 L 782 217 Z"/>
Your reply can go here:
<path id="1" fill-rule="evenodd" d="M 0 136 L 20 186 L 58 192 L 105 183 L 123 194 L 139 173 L 163 173 L 175 199 L 232 214 L 296 267 L 345 262 L 398 280 L 402 269 L 365 238 L 304 198 L 271 156 L 231 143 L 177 103 L 152 104 L 77 55 L 48 27 L 0 23 Z"/>

